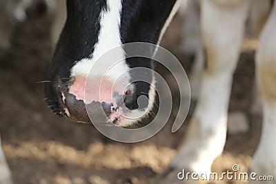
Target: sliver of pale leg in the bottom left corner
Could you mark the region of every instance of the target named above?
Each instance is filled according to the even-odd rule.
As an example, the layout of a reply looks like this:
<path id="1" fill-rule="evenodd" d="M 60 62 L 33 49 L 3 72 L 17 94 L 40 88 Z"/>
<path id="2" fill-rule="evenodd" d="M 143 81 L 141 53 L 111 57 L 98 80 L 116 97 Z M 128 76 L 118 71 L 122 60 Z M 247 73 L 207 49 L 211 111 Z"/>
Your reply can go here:
<path id="1" fill-rule="evenodd" d="M 0 184 L 12 184 L 12 174 L 8 167 L 4 152 L 1 147 L 0 139 Z"/>

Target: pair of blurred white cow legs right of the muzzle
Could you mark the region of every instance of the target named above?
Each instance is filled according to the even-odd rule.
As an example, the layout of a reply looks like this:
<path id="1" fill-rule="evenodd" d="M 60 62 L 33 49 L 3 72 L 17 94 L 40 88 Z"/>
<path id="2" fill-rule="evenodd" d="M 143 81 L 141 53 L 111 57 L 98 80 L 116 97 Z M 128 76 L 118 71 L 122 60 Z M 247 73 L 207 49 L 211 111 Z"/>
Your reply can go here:
<path id="1" fill-rule="evenodd" d="M 262 3 L 265 4 L 267 1 L 262 1 Z M 272 1 L 271 3 L 273 4 Z M 210 167 L 223 151 L 226 141 L 230 89 L 248 12 L 252 8 L 252 19 L 258 17 L 257 13 L 264 15 L 269 13 L 269 10 L 257 12 L 256 6 L 250 6 L 250 1 L 210 0 L 200 1 L 200 6 L 200 34 L 206 57 L 206 68 L 202 76 L 199 101 L 190 121 L 185 142 L 164 172 L 168 179 L 164 183 L 177 183 L 175 175 L 181 168 L 191 172 L 210 173 Z M 260 10 L 267 10 L 263 5 L 257 7 Z M 255 55 L 257 84 L 262 96 L 264 120 L 262 136 L 253 155 L 250 170 L 259 175 L 273 175 L 276 165 L 276 159 L 273 156 L 275 152 L 273 145 L 273 132 L 275 131 L 273 79 L 276 62 L 276 56 L 273 54 L 276 39 L 276 34 L 273 32 L 276 21 L 275 3 L 267 21 L 255 21 L 257 24 L 265 22 L 264 28 L 260 31 L 259 45 Z M 257 28 L 261 27 L 257 25 Z M 270 181 L 270 183 L 273 182 L 275 181 Z"/>

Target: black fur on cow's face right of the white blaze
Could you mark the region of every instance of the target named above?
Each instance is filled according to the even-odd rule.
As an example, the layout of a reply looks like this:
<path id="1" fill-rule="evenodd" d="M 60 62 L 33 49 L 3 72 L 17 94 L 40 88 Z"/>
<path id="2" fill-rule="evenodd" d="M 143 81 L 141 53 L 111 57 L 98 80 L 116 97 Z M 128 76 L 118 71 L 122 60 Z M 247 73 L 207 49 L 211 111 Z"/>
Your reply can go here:
<path id="1" fill-rule="evenodd" d="M 168 16 L 175 5 L 176 0 L 135 0 L 124 1 L 121 11 L 121 42 L 146 42 L 156 44 Z M 152 54 L 154 49 L 151 50 Z M 127 53 L 126 53 L 127 54 Z M 154 69 L 153 62 L 150 59 L 141 57 L 126 59 L 126 63 L 130 68 L 150 68 Z M 135 79 L 134 72 L 130 72 L 132 78 Z M 147 75 L 146 73 L 144 74 Z M 147 81 L 152 81 L 152 75 L 148 76 Z M 142 81 L 134 83 L 136 99 L 145 95 L 148 97 L 150 84 Z M 128 108 L 137 108 L 137 103 L 129 105 Z"/>

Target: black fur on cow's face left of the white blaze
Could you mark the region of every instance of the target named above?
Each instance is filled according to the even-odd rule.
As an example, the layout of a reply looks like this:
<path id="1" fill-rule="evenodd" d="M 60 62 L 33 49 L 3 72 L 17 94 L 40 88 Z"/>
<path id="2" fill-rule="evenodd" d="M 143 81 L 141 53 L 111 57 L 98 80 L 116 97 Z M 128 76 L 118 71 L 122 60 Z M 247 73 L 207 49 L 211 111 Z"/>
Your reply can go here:
<path id="1" fill-rule="evenodd" d="M 107 10 L 106 0 L 67 0 L 66 6 L 66 23 L 50 65 L 51 83 L 45 88 L 48 105 L 60 116 L 64 112 L 58 85 L 68 85 L 75 61 L 90 57 L 99 37 L 100 13 Z"/>

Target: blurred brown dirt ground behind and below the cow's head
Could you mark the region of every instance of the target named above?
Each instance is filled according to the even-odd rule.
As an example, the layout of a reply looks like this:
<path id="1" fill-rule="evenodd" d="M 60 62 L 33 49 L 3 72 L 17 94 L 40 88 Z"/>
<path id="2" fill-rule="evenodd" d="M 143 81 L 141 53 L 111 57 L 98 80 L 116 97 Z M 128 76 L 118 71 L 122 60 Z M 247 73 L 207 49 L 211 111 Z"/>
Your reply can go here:
<path id="1" fill-rule="evenodd" d="M 126 144 L 110 141 L 93 125 L 52 114 L 43 101 L 43 84 L 37 83 L 46 79 L 51 59 L 50 22 L 46 15 L 30 16 L 18 26 L 12 50 L 0 60 L 0 132 L 14 183 L 148 183 L 168 165 L 186 126 L 171 134 L 168 123 L 151 139 Z M 189 65 L 179 52 L 179 26 L 175 19 L 162 45 Z M 230 170 L 234 164 L 248 170 L 262 121 L 259 114 L 250 112 L 253 83 L 254 50 L 248 49 L 235 72 L 230 112 L 244 112 L 250 131 L 228 134 L 224 154 L 215 161 L 213 171 Z"/>

